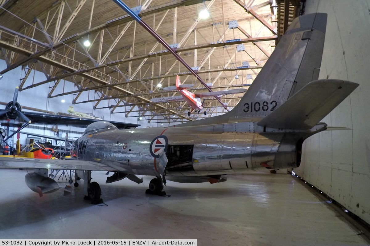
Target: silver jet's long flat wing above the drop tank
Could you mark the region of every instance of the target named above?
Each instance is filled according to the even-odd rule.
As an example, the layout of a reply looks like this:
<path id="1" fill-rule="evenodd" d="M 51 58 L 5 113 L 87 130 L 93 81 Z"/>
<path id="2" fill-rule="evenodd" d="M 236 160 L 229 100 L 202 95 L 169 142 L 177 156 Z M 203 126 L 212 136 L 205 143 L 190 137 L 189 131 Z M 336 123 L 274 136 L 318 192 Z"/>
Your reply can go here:
<path id="1" fill-rule="evenodd" d="M 0 169 L 43 168 L 61 170 L 124 171 L 88 160 L 33 159 L 0 156 Z"/>

